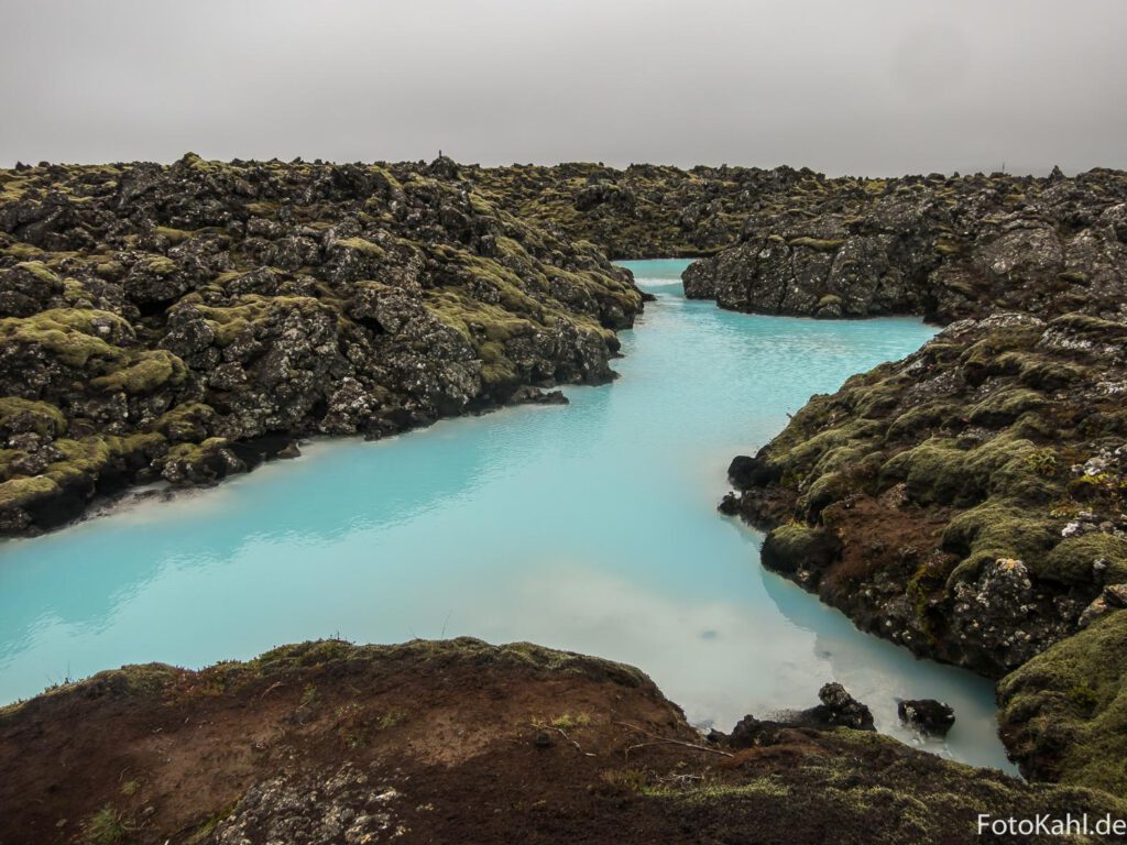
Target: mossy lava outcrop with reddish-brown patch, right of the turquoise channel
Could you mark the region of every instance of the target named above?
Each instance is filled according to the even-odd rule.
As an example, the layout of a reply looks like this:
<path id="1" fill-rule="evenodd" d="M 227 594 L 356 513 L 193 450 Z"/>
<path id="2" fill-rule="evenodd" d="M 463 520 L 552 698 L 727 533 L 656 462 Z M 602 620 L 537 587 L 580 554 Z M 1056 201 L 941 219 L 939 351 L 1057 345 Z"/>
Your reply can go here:
<path id="1" fill-rule="evenodd" d="M 863 628 L 1000 677 L 1127 580 L 1124 339 L 1086 314 L 955 323 L 811 398 L 722 508 Z"/>

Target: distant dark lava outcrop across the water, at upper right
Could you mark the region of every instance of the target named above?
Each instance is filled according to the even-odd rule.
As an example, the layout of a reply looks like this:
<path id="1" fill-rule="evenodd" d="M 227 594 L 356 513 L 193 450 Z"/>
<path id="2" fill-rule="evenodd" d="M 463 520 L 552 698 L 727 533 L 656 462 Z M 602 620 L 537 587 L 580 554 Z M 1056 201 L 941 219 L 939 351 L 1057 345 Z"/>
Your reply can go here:
<path id="1" fill-rule="evenodd" d="M 1127 295 L 1127 175 L 808 178 L 694 263 L 685 294 L 818 318 L 1023 310 L 1117 313 Z M 797 190 L 797 189 L 796 189 Z"/>

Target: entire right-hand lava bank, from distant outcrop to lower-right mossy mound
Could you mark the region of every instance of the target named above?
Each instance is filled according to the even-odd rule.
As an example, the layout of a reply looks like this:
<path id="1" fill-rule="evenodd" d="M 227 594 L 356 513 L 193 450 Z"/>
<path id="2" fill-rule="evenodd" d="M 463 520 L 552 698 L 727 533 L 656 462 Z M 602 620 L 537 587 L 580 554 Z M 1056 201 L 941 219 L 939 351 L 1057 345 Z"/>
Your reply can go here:
<path id="1" fill-rule="evenodd" d="M 685 286 L 947 324 L 736 459 L 721 509 L 860 626 L 1003 678 L 1023 772 L 1127 792 L 1127 175 L 827 181 Z"/>

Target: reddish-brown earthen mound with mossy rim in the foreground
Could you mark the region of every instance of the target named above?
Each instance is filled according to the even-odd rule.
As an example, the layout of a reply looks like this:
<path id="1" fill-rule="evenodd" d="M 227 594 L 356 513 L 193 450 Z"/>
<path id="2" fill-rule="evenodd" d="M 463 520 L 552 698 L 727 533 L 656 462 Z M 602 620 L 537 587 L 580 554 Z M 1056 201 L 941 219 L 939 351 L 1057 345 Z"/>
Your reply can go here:
<path id="1" fill-rule="evenodd" d="M 0 711 L 0 842 L 953 843 L 978 813 L 1127 816 L 871 732 L 753 722 L 707 742 L 637 669 L 527 643 L 125 667 Z"/>

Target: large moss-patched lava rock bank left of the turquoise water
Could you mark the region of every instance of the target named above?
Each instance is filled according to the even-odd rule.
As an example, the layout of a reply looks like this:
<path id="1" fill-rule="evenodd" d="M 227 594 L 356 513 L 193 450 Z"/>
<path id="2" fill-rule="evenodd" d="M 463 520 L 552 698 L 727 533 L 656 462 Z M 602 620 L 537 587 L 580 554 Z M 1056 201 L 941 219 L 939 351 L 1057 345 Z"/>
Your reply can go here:
<path id="1" fill-rule="evenodd" d="M 0 534 L 605 382 L 641 302 L 449 160 L 0 171 Z"/>

